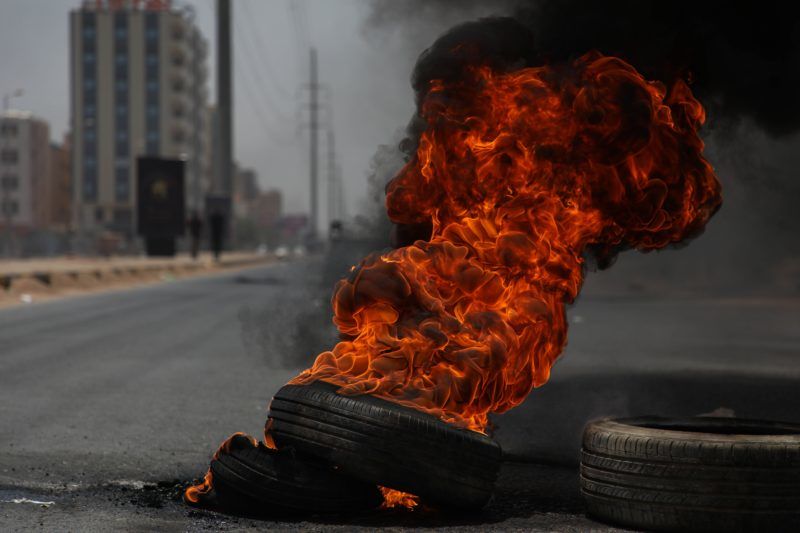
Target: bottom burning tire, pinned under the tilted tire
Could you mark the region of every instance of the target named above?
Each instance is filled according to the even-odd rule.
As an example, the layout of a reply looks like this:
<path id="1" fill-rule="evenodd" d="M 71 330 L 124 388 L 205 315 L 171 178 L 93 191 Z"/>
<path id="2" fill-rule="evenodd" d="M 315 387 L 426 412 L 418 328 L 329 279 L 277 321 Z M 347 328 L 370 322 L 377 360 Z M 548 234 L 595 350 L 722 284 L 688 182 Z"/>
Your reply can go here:
<path id="1" fill-rule="evenodd" d="M 246 514 L 341 514 L 377 507 L 375 485 L 334 472 L 330 467 L 276 451 L 249 437 L 233 437 L 227 451 L 211 461 L 219 504 Z"/>

